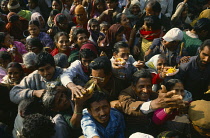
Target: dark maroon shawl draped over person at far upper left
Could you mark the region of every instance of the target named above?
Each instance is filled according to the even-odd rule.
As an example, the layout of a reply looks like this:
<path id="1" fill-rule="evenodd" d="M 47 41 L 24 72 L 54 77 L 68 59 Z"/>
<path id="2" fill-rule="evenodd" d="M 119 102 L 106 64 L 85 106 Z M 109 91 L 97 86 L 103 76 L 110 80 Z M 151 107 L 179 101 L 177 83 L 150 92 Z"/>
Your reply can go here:
<path id="1" fill-rule="evenodd" d="M 15 19 L 16 18 L 16 19 Z M 10 12 L 7 15 L 7 20 L 9 21 L 6 25 L 6 29 L 11 36 L 14 36 L 15 39 L 23 39 L 23 32 L 28 29 L 28 21 L 15 12 Z M 16 22 L 20 20 L 20 22 Z"/>

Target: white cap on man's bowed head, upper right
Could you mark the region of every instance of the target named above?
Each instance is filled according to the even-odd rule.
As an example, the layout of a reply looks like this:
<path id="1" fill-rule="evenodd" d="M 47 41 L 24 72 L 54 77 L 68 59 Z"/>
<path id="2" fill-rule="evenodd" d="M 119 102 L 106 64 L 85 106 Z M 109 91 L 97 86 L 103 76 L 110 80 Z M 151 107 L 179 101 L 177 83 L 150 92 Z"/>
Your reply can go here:
<path id="1" fill-rule="evenodd" d="M 172 28 L 163 36 L 163 39 L 167 42 L 182 41 L 183 32 L 179 28 Z"/>

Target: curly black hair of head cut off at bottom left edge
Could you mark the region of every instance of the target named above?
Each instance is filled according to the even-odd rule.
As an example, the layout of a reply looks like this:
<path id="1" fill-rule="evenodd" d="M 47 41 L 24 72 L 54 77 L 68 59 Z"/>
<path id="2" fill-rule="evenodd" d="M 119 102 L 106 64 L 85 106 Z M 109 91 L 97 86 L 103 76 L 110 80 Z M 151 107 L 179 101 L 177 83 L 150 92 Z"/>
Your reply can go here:
<path id="1" fill-rule="evenodd" d="M 36 113 L 25 117 L 22 133 L 26 138 L 51 138 L 54 125 L 50 117 Z"/>

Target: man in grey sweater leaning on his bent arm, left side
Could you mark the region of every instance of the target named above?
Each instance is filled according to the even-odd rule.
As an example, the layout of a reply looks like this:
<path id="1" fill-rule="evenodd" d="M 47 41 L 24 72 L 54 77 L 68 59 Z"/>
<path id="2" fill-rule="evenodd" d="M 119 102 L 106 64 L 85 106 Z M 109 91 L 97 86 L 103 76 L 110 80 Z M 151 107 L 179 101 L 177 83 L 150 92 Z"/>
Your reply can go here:
<path id="1" fill-rule="evenodd" d="M 61 85 L 60 75 L 63 70 L 55 66 L 52 55 L 41 52 L 36 58 L 36 68 L 34 72 L 23 78 L 20 84 L 14 86 L 10 91 L 10 100 L 16 104 L 27 98 L 41 98 L 47 87 Z"/>

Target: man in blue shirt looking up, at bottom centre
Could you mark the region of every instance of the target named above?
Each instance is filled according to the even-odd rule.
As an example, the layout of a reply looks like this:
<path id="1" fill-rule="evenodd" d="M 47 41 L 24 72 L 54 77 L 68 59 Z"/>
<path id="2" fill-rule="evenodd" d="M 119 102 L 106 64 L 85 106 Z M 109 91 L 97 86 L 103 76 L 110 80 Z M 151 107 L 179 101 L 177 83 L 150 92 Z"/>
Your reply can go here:
<path id="1" fill-rule="evenodd" d="M 81 127 L 87 138 L 123 138 L 125 122 L 123 115 L 111 108 L 107 94 L 95 91 L 86 101 Z"/>

